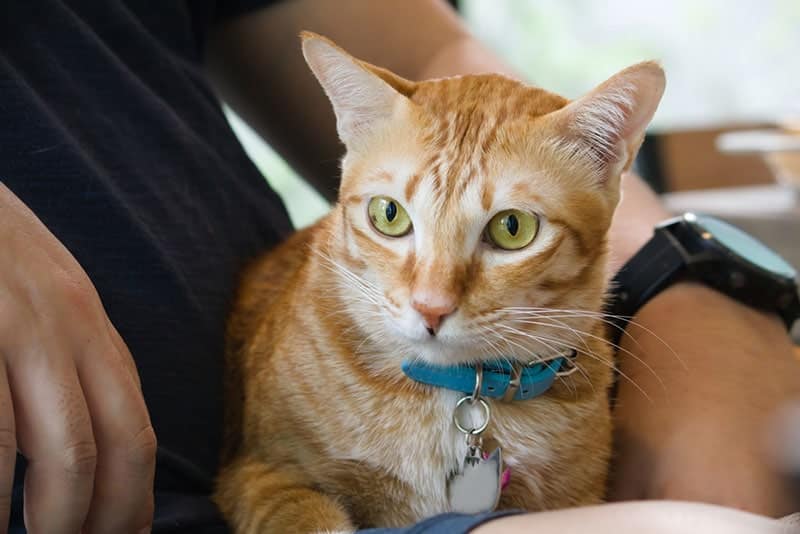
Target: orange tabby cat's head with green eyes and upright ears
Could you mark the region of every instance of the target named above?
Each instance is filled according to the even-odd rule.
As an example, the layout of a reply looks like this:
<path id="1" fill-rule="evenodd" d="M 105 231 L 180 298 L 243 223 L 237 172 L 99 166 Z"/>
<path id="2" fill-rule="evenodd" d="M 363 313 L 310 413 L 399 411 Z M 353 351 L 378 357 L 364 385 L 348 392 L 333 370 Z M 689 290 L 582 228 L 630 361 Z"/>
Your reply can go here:
<path id="1" fill-rule="evenodd" d="M 310 33 L 303 52 L 347 149 L 330 260 L 368 339 L 439 364 L 576 346 L 661 68 L 570 102 L 498 75 L 411 82 Z"/>

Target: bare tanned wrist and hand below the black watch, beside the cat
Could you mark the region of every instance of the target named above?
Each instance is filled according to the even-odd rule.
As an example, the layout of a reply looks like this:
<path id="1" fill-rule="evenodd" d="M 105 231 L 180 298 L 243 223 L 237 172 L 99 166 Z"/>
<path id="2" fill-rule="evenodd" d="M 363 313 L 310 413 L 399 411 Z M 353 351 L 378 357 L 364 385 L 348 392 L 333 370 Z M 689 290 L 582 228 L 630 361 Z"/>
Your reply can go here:
<path id="1" fill-rule="evenodd" d="M 800 398 L 800 361 L 780 320 L 679 284 L 635 321 L 652 333 L 629 326 L 618 364 L 650 400 L 621 379 L 611 498 L 703 501 L 775 517 L 796 511 L 768 452 L 775 415 Z"/>

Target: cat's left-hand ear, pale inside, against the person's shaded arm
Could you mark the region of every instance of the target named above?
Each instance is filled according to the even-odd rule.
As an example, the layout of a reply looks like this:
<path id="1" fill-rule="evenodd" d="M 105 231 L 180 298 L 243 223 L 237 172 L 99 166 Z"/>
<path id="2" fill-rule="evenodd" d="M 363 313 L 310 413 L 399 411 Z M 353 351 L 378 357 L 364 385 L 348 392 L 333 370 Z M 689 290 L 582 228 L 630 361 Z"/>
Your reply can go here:
<path id="1" fill-rule="evenodd" d="M 349 149 L 385 127 L 398 107 L 411 105 L 404 94 L 410 94 L 413 82 L 354 58 L 325 37 L 300 36 L 306 62 L 333 104 L 336 129 Z"/>

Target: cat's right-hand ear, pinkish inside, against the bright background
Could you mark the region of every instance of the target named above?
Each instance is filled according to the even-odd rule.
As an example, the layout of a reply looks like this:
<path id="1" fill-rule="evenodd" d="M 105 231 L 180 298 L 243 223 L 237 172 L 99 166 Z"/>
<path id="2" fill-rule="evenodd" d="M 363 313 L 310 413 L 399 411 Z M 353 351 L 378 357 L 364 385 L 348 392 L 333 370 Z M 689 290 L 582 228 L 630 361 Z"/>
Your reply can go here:
<path id="1" fill-rule="evenodd" d="M 665 83 L 658 63 L 638 63 L 559 110 L 571 157 L 588 161 L 601 181 L 628 170 L 661 101 Z"/>

